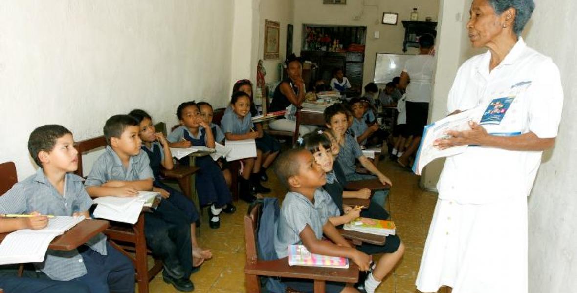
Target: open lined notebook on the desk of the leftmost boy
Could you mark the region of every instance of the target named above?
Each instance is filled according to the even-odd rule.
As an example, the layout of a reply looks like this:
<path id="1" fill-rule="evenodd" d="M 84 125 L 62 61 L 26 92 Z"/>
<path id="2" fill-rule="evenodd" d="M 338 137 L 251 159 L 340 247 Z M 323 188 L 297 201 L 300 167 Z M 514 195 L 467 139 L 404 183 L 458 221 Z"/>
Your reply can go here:
<path id="1" fill-rule="evenodd" d="M 48 219 L 43 229 L 24 229 L 6 235 L 0 243 L 0 265 L 44 261 L 50 242 L 83 220 L 84 216 L 55 216 Z"/>

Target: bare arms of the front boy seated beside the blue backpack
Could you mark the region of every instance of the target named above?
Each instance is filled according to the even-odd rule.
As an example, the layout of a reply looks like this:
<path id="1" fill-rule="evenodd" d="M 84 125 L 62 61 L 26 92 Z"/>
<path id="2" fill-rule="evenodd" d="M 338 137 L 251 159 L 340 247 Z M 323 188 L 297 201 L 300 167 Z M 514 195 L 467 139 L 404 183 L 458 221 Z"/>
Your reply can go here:
<path id="1" fill-rule="evenodd" d="M 330 226 L 330 227 L 329 227 Z M 332 229 L 331 229 L 332 227 Z M 332 226 L 331 223 L 327 221 L 327 223 L 323 226 L 323 232 L 327 234 L 329 239 L 338 238 L 334 237 L 334 233 L 340 236 L 339 231 L 336 230 L 335 226 Z M 320 254 L 323 256 L 336 256 L 336 257 L 346 257 L 350 258 L 359 266 L 361 271 L 367 271 L 369 269 L 370 257 L 366 254 L 362 253 L 351 247 L 348 242 L 346 242 L 343 236 L 340 236 L 342 241 L 337 242 L 338 244 L 322 241 L 317 239 L 317 236 L 314 235 L 314 231 L 308 225 L 301 231 L 299 234 L 301 238 L 302 244 L 305 245 L 306 249 L 309 250 L 311 253 Z"/>

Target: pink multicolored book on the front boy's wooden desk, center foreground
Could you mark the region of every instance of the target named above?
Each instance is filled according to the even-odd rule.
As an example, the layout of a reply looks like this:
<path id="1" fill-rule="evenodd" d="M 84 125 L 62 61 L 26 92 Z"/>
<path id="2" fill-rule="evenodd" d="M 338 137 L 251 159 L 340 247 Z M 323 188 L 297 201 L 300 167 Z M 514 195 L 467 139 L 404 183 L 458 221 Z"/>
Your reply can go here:
<path id="1" fill-rule="evenodd" d="M 310 253 L 304 245 L 292 244 L 288 247 L 288 265 L 349 268 L 349 259 L 344 257 L 319 256 L 319 254 Z"/>

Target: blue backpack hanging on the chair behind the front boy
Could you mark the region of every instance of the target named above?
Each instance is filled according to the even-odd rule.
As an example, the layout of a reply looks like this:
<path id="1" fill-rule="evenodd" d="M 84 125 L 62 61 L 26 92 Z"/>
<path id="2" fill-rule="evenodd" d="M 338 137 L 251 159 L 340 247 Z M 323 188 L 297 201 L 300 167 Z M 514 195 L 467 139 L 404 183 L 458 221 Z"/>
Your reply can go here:
<path id="1" fill-rule="evenodd" d="M 280 215 L 279 200 L 267 197 L 253 203 L 262 202 L 260 220 L 257 226 L 257 254 L 260 260 L 278 260 L 275 250 L 276 227 Z M 251 206 L 252 209 L 252 206 Z M 250 209 L 249 209 L 250 211 Z M 261 284 L 268 292 L 284 293 L 286 286 L 280 282 L 278 277 L 260 277 Z"/>

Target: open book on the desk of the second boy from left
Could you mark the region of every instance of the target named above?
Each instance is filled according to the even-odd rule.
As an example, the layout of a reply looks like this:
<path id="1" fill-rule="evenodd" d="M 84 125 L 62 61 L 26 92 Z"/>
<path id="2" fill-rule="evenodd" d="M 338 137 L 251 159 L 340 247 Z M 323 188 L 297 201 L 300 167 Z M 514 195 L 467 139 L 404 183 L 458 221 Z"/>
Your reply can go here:
<path id="1" fill-rule="evenodd" d="M 93 200 L 95 204 L 98 204 L 94 209 L 94 216 L 99 219 L 134 224 L 143 206 L 152 206 L 157 198 L 160 199 L 160 193 L 152 191 L 138 191 L 138 196 L 135 197 L 98 197 Z"/>

